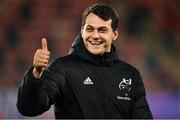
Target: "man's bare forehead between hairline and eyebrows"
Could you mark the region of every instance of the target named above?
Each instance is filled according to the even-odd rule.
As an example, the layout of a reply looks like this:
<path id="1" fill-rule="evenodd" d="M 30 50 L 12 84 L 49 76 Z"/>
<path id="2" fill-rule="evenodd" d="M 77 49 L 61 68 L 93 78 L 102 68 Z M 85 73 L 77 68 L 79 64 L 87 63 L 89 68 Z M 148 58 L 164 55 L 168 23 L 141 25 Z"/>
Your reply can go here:
<path id="1" fill-rule="evenodd" d="M 107 20 L 104 21 L 103 19 L 101 19 L 100 17 L 98 17 L 96 14 L 94 13 L 90 13 L 87 17 L 86 17 L 86 21 L 85 21 L 85 25 L 86 26 L 92 26 L 95 28 L 99 28 L 99 27 L 107 27 L 107 28 L 111 28 L 111 22 L 112 20 Z"/>

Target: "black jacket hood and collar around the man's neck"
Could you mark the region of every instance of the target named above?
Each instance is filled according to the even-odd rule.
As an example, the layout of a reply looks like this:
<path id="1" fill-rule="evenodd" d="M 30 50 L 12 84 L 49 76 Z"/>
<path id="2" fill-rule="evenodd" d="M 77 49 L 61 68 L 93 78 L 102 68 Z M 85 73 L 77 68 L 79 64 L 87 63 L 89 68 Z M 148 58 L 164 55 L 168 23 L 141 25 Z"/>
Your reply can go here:
<path id="1" fill-rule="evenodd" d="M 83 38 L 81 37 L 81 34 L 79 34 L 73 42 L 69 50 L 69 54 L 77 55 L 82 59 L 91 62 L 92 64 L 112 65 L 115 61 L 118 60 L 118 56 L 114 45 L 112 44 L 111 46 L 112 47 L 110 52 L 107 52 L 104 55 L 94 55 L 86 49 L 83 43 Z"/>

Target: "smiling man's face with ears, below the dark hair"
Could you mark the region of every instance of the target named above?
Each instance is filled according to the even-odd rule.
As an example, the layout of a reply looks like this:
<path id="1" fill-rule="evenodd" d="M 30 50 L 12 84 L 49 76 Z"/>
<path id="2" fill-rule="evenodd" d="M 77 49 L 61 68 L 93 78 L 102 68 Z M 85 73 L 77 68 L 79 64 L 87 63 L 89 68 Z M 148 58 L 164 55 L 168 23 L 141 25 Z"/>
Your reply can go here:
<path id="1" fill-rule="evenodd" d="M 110 52 L 111 43 L 118 37 L 118 32 L 111 28 L 112 20 L 104 21 L 94 13 L 90 13 L 81 29 L 83 42 L 87 50 L 94 55 Z"/>

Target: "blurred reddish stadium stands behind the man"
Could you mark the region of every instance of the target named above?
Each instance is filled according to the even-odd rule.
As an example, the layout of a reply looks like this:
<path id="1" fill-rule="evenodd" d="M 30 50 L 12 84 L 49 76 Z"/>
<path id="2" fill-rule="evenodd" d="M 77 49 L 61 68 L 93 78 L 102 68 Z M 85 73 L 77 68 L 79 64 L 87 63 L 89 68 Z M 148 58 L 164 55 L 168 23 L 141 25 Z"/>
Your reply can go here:
<path id="1" fill-rule="evenodd" d="M 51 60 L 66 55 L 83 11 L 94 3 L 118 10 L 114 44 L 140 70 L 154 118 L 180 119 L 179 0 L 0 0 L 0 119 L 29 118 L 17 111 L 17 90 L 41 38 Z M 54 118 L 52 108 L 35 118 Z"/>

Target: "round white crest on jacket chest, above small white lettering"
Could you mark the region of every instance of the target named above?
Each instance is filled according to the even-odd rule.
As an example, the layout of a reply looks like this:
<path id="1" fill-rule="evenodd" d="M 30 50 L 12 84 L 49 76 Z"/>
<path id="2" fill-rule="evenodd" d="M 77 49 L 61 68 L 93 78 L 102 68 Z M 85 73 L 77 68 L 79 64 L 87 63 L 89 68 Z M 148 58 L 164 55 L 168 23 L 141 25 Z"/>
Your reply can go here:
<path id="1" fill-rule="evenodd" d="M 123 80 L 119 83 L 119 89 L 129 92 L 131 90 L 131 83 L 131 79 L 123 78 Z"/>

